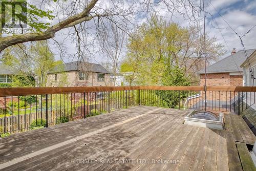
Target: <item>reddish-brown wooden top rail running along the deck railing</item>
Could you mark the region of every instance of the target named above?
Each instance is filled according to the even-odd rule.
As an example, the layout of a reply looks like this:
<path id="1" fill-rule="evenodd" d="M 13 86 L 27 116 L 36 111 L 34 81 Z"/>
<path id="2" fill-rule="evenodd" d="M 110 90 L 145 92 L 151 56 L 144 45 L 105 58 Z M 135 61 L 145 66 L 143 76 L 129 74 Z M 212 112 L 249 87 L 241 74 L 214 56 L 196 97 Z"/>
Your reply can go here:
<path id="1" fill-rule="evenodd" d="M 0 97 L 41 94 L 63 94 L 84 92 L 108 92 L 121 90 L 183 90 L 204 91 L 203 86 L 124 86 L 124 87 L 55 87 L 55 88 L 0 88 Z M 256 92 L 256 87 L 207 87 L 207 91 Z"/>

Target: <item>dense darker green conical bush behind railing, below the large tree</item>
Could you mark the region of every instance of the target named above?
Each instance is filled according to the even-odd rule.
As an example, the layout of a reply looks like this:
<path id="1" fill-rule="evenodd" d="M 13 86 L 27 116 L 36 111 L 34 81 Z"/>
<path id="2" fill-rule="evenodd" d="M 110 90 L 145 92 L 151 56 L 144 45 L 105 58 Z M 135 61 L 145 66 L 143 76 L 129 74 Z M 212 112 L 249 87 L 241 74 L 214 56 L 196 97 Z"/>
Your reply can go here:
<path id="1" fill-rule="evenodd" d="M 178 66 L 166 67 L 162 77 L 163 86 L 190 86 L 190 78 L 186 76 L 185 69 Z M 187 97 L 186 91 L 160 91 L 159 97 L 166 102 L 169 108 L 179 105 L 180 100 Z"/>

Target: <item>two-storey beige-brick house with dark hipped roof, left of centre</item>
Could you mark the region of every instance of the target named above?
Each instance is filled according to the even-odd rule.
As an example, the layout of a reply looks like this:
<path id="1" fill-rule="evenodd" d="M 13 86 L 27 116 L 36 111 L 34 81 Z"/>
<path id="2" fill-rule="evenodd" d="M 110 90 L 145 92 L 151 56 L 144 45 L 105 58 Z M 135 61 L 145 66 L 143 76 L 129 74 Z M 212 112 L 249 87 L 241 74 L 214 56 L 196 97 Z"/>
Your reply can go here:
<path id="1" fill-rule="evenodd" d="M 48 73 L 47 87 L 58 87 L 61 78 L 67 77 L 65 87 L 113 86 L 111 73 L 97 63 L 74 61 L 57 66 Z"/>

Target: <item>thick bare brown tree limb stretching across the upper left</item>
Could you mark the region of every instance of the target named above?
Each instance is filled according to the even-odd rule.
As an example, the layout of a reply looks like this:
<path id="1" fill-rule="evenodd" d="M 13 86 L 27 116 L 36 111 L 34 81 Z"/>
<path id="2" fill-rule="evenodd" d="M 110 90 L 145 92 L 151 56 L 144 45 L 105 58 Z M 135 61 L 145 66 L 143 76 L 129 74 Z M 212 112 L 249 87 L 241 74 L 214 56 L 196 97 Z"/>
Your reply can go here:
<path id="1" fill-rule="evenodd" d="M 50 38 L 53 38 L 55 36 L 55 33 L 69 27 L 73 27 L 81 22 L 90 20 L 93 18 L 93 16 L 89 16 L 90 11 L 93 9 L 95 4 L 98 2 L 98 0 L 92 0 L 88 6 L 79 14 L 76 14 L 74 16 L 71 16 L 62 22 L 53 25 L 51 28 L 46 30 L 42 33 L 26 33 L 22 35 L 13 35 L 13 36 L 7 36 L 7 37 L 1 37 L 0 38 L 0 53 L 16 44 L 20 44 L 23 42 L 28 41 L 37 41 L 37 40 L 47 40 Z"/>

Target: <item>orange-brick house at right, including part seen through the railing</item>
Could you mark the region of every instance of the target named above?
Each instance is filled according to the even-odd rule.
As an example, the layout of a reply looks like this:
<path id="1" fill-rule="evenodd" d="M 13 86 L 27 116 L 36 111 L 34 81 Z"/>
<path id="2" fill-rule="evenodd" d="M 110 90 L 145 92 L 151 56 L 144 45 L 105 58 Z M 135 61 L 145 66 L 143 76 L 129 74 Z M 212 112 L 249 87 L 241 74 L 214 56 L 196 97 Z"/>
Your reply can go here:
<path id="1" fill-rule="evenodd" d="M 246 50 L 246 53 L 250 56 L 255 50 L 256 49 L 249 49 Z M 240 66 L 245 60 L 244 51 L 236 52 L 236 49 L 233 49 L 229 56 L 206 68 L 206 86 L 244 86 L 244 71 Z M 200 75 L 200 86 L 204 86 L 204 69 L 197 72 L 197 74 Z M 233 107 L 234 96 L 237 96 L 237 94 L 228 91 L 208 92 L 206 94 L 207 109 L 210 110 L 211 106 L 218 106 L 220 111 L 231 109 Z M 191 96 L 188 99 L 188 104 L 192 103 L 204 107 L 204 92 L 198 92 L 195 98 Z"/>

